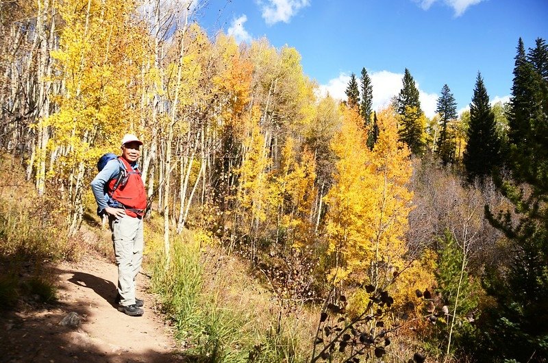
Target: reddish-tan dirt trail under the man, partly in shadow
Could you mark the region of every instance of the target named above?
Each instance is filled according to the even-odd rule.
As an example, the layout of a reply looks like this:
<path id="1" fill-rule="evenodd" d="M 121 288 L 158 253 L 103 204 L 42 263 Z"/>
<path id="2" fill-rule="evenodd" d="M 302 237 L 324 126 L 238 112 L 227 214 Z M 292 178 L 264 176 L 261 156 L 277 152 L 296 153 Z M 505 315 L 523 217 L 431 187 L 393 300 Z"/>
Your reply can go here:
<path id="1" fill-rule="evenodd" d="M 55 274 L 58 303 L 2 313 L 0 362 L 192 362 L 174 353 L 172 331 L 146 291 L 145 275 L 137 281 L 145 315 L 132 317 L 115 308 L 114 264 L 86 257 L 78 263 L 63 262 Z M 59 324 L 70 312 L 82 316 L 79 328 Z"/>

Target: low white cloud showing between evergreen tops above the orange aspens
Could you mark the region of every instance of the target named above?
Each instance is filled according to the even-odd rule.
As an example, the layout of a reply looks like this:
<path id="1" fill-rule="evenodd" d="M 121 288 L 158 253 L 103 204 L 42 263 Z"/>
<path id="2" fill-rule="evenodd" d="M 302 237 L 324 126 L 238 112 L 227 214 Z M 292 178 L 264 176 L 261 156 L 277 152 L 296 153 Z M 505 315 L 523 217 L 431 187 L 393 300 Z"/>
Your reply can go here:
<path id="1" fill-rule="evenodd" d="M 359 75 L 356 75 L 356 77 L 359 77 Z M 392 97 L 398 95 L 403 86 L 403 74 L 379 71 L 370 73 L 369 77 L 373 86 L 373 110 L 378 111 L 386 107 Z M 347 73 L 340 73 L 338 77 L 330 79 L 327 84 L 320 86 L 319 95 L 325 96 L 329 92 L 329 95 L 334 99 L 345 101 L 347 99 L 345 90 L 349 81 L 350 76 Z M 419 84 L 416 86 L 419 88 Z M 421 101 L 421 108 L 427 117 L 436 114 L 436 103 L 438 101 L 436 93 L 427 93 L 419 88 L 419 101 Z"/>

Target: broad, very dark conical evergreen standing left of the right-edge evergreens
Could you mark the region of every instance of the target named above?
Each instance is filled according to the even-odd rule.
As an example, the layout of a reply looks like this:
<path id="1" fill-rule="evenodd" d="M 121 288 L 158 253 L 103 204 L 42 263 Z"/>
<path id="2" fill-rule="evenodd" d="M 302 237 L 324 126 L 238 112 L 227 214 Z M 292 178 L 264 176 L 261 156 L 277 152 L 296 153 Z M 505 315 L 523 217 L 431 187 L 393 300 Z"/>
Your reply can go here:
<path id="1" fill-rule="evenodd" d="M 482 75 L 478 72 L 474 97 L 470 103 L 468 144 L 464 150 L 464 167 L 469 182 L 476 177 L 483 180 L 500 164 L 500 140 L 495 124 L 495 114 L 489 105 L 489 96 Z"/>

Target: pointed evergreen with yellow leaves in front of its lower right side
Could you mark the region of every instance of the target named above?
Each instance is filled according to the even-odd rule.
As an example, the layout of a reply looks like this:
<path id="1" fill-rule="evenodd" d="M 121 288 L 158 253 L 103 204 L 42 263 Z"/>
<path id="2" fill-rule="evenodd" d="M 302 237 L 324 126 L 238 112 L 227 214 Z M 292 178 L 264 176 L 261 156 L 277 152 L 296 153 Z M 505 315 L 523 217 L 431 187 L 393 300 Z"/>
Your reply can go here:
<path id="1" fill-rule="evenodd" d="M 412 153 L 421 155 L 425 146 L 423 110 L 419 101 L 419 90 L 408 68 L 403 74 L 403 88 L 399 91 L 395 103 L 401 116 L 399 139 L 408 145 Z"/>

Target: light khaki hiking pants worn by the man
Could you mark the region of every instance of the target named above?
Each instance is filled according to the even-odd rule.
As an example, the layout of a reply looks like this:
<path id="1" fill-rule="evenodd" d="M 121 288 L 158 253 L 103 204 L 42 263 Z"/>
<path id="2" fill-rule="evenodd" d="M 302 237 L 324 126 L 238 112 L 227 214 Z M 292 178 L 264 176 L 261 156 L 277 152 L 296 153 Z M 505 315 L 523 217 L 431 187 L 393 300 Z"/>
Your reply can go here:
<path id="1" fill-rule="evenodd" d="M 114 244 L 114 255 L 118 265 L 118 293 L 120 305 L 135 303 L 135 279 L 142 261 L 142 218 L 123 216 L 110 218 L 110 230 Z"/>

